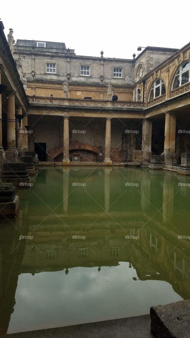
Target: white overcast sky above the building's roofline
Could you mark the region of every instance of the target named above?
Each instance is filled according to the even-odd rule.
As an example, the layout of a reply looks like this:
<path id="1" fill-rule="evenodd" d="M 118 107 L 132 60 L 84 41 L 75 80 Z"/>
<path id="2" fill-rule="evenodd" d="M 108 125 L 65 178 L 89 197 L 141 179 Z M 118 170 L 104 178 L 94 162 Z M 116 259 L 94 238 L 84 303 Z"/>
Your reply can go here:
<path id="1" fill-rule="evenodd" d="M 65 42 L 77 55 L 129 58 L 137 47 L 182 48 L 190 40 L 189 0 L 42 1 L 1 4 L 14 39 Z"/>

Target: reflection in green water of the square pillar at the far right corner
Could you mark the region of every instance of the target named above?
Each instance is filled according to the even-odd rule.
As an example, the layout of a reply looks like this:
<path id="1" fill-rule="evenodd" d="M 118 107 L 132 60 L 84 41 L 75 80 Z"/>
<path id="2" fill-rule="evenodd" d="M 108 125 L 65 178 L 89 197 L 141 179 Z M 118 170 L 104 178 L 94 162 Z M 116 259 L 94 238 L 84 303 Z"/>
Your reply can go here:
<path id="1" fill-rule="evenodd" d="M 139 181 L 138 181 L 139 182 Z M 150 206 L 150 177 L 146 171 L 141 176 L 141 209 L 145 211 Z"/>

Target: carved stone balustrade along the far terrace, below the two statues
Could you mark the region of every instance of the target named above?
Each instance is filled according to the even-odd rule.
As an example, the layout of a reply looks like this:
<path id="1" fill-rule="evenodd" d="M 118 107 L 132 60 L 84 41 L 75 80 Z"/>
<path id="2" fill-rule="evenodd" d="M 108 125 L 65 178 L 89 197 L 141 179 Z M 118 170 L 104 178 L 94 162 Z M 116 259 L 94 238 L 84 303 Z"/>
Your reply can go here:
<path id="1" fill-rule="evenodd" d="M 28 96 L 30 105 L 43 106 L 69 106 L 69 107 L 86 107 L 86 108 L 112 108 L 112 109 L 142 109 L 145 108 L 145 103 L 136 101 L 107 101 L 107 100 L 84 100 L 84 99 L 64 99 L 57 97 L 40 97 Z"/>

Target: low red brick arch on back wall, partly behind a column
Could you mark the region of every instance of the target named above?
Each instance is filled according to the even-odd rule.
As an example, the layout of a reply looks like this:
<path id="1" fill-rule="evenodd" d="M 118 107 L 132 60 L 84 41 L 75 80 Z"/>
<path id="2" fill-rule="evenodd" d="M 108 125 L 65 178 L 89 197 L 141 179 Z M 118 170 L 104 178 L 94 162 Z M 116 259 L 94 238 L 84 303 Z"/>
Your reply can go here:
<path id="1" fill-rule="evenodd" d="M 79 142 L 79 141 L 69 143 L 69 150 L 80 150 L 80 149 L 81 150 L 89 150 L 89 151 L 92 151 L 96 154 L 98 154 L 99 151 L 100 151 L 99 147 L 95 148 L 93 146 L 90 146 L 89 144 L 85 144 L 85 143 L 82 143 L 82 142 Z M 61 154 L 63 154 L 63 145 L 48 151 L 48 155 L 52 159 L 54 159 L 55 157 L 57 157 L 58 155 L 61 155 Z"/>

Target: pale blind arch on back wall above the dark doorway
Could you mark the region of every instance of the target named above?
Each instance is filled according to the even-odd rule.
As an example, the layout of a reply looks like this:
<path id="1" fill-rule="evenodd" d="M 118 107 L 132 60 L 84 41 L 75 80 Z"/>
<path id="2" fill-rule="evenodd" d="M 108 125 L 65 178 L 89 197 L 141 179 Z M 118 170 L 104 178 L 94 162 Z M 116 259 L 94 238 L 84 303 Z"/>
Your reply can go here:
<path id="1" fill-rule="evenodd" d="M 34 126 L 34 140 L 46 143 L 47 150 L 54 149 L 60 144 L 60 128 L 49 122 L 39 123 Z"/>

